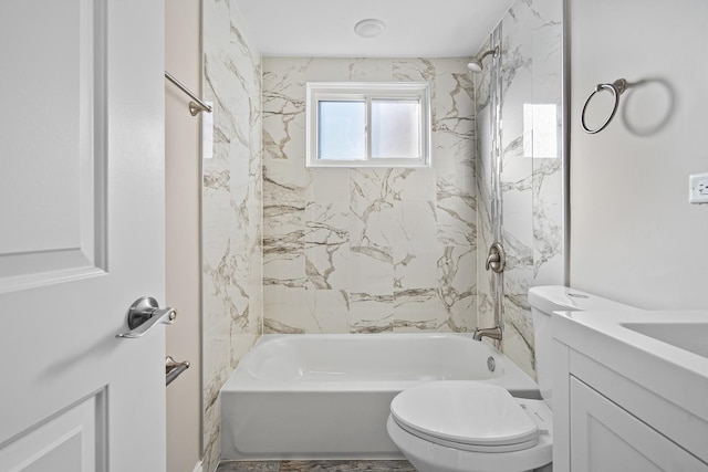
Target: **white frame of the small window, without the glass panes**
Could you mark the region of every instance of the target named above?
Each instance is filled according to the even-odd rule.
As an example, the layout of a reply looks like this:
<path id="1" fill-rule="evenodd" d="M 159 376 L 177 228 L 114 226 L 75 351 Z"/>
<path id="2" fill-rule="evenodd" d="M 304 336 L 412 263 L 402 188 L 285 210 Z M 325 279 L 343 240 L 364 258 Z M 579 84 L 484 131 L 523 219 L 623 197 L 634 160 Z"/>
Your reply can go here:
<path id="1" fill-rule="evenodd" d="M 317 159 L 320 101 L 366 101 L 366 122 L 371 123 L 372 98 L 415 98 L 420 101 L 420 156 L 417 158 L 375 158 L 371 156 L 371 134 L 366 136 L 366 159 Z M 430 167 L 430 84 L 427 82 L 308 82 L 306 83 L 306 167 Z"/>

